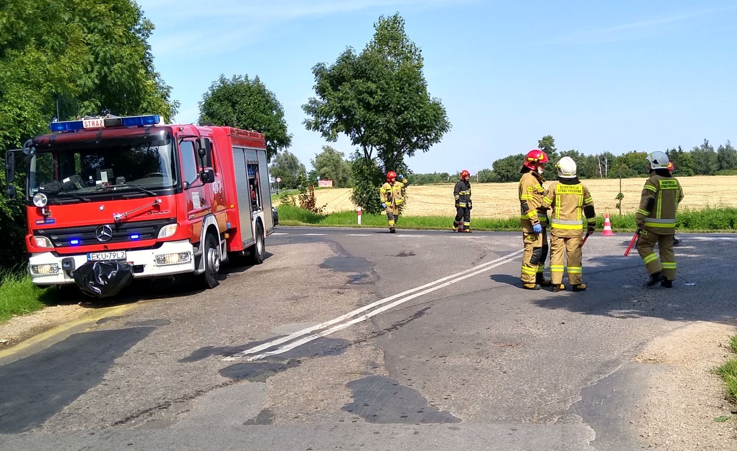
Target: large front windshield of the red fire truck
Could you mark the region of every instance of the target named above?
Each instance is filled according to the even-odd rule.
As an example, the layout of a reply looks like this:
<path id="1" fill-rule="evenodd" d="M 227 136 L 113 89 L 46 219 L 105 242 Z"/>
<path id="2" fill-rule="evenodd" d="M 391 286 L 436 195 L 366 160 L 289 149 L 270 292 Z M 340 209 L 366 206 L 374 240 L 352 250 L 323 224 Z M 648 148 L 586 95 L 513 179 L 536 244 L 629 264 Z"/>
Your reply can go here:
<path id="1" fill-rule="evenodd" d="M 178 185 L 169 136 L 74 141 L 38 150 L 30 161 L 28 197 L 43 192 L 49 203 L 80 198 L 158 195 Z"/>

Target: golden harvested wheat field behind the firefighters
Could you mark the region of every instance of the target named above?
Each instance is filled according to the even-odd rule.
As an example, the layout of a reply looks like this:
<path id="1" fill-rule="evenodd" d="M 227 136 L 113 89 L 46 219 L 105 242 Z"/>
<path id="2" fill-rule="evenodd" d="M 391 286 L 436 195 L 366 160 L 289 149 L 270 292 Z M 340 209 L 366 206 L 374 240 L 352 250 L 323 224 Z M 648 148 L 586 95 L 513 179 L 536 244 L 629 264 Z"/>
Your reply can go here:
<path id="1" fill-rule="evenodd" d="M 685 193 L 681 208 L 737 207 L 737 175 L 682 177 L 678 181 Z M 593 179 L 583 182 L 591 191 L 598 213 L 613 214 L 617 211 L 615 196 L 619 192 L 618 180 Z M 638 208 L 643 183 L 644 178 L 622 180 L 623 213 L 634 212 Z M 548 184 L 545 183 L 545 186 Z M 510 217 L 520 214 L 517 183 L 472 183 L 472 192 L 474 217 Z M 452 184 L 410 185 L 407 193 L 408 206 L 404 213 L 408 216 L 455 214 Z M 351 189 L 348 188 L 315 190 L 318 206 L 326 205 L 327 213 L 355 209 L 349 200 L 350 195 Z"/>

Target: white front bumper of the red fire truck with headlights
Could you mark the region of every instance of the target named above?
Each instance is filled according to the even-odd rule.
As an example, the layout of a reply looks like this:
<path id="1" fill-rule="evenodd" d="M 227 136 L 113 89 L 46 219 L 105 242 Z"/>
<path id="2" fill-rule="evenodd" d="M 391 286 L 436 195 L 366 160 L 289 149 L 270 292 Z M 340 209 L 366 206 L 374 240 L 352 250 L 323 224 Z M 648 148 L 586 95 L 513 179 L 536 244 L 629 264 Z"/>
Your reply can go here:
<path id="1" fill-rule="evenodd" d="M 119 251 L 118 251 L 119 252 Z M 109 253 L 111 257 L 121 254 Z M 74 284 L 74 270 L 91 261 L 91 254 L 60 255 L 52 252 L 31 254 L 28 272 L 36 285 Z M 104 260 L 103 260 L 104 261 Z M 164 242 L 156 249 L 125 251 L 119 262 L 128 262 L 134 279 L 170 276 L 195 271 L 195 256 L 189 240 Z"/>

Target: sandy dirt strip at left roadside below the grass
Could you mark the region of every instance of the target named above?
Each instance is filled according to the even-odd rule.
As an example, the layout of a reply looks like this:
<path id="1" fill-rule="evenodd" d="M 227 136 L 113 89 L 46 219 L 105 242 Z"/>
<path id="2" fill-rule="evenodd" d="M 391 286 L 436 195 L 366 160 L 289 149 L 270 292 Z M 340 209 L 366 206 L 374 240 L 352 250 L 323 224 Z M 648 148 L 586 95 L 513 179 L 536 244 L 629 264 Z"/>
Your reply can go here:
<path id="1" fill-rule="evenodd" d="M 0 324 L 0 351 L 56 326 L 74 321 L 88 312 L 90 312 L 88 308 L 79 304 L 55 305 L 28 315 L 10 318 L 10 321 Z"/>

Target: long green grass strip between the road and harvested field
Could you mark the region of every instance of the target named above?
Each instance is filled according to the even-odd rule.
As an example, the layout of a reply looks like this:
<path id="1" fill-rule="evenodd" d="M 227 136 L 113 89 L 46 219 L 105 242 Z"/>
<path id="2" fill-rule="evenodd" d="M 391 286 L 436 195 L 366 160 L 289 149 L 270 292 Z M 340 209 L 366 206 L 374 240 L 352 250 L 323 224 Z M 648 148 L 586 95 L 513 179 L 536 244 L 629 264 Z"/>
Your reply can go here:
<path id="1" fill-rule="evenodd" d="M 315 214 L 298 207 L 282 205 L 279 211 L 279 223 L 283 226 L 332 226 L 356 227 L 355 211 L 336 211 L 331 214 Z M 609 219 L 614 231 L 634 232 L 635 214 L 615 214 Z M 364 227 L 386 227 L 385 214 L 363 214 L 361 223 Z M 405 216 L 399 218 L 397 227 L 444 230 L 450 228 L 453 217 L 450 216 Z M 496 219 L 489 217 L 471 217 L 473 230 L 517 231 L 520 229 L 518 217 Z M 596 228 L 604 228 L 604 215 L 599 215 Z M 704 209 L 679 211 L 676 220 L 679 231 L 737 231 L 737 209 Z"/>

